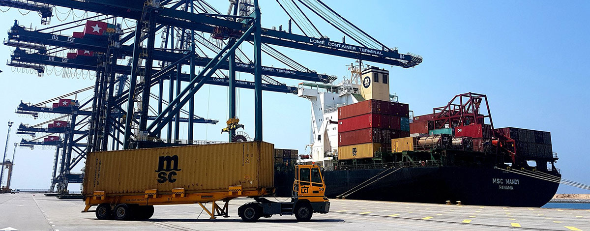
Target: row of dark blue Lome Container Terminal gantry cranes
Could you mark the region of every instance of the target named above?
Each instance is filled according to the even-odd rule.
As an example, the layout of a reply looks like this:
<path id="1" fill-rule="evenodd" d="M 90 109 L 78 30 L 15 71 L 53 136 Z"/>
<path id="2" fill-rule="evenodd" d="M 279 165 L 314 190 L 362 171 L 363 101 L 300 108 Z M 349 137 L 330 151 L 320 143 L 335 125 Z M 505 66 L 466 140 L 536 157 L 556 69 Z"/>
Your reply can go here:
<path id="1" fill-rule="evenodd" d="M 52 121 L 65 118 L 68 126 L 41 127 L 52 121 L 34 126 L 21 124 L 18 133 L 31 135 L 33 139 L 23 139 L 20 145 L 55 146 L 52 189 L 57 184 L 57 190 L 63 192 L 67 190 L 68 183 L 78 183 L 76 179 L 79 174 L 70 171 L 86 158 L 89 151 L 131 149 L 146 141 L 159 141 L 162 145 L 180 143 L 180 123 L 188 125 L 188 129 L 182 131 L 188 137 L 186 143 L 199 143 L 194 140 L 194 124 L 218 122 L 195 116 L 195 93 L 204 84 L 228 87 L 229 118 L 236 117 L 236 89 L 253 89 L 254 140 L 263 140 L 262 92 L 297 92 L 297 87 L 288 86 L 274 78 L 321 83 L 336 80 L 333 75 L 319 74 L 304 67 L 275 47 L 403 68 L 415 67 L 422 62 L 419 55 L 401 54 L 397 48 L 385 47 L 320 0 L 277 2 L 290 17 L 286 31 L 282 28 L 261 27 L 258 0 L 230 0 L 227 14 L 221 14 L 203 0 L 0 0 L 0 6 L 40 12 L 44 18 L 42 24 L 50 22 L 52 9 L 57 7 L 97 14 L 41 29 L 26 28 L 14 21 L 8 39 L 4 41 L 5 45 L 16 47 L 8 65 L 29 68 L 39 75 L 51 66 L 93 71 L 96 77 L 93 87 L 76 93 L 39 104 L 21 102 L 17 113 L 35 118 L 39 113 L 58 114 L 61 117 Z M 286 4 L 291 5 L 285 8 Z M 297 6 L 299 10 L 293 12 L 291 9 L 294 8 L 290 6 Z M 358 45 L 346 43 L 345 38 L 342 38 L 342 42 L 330 40 L 313 25 L 302 8 L 309 9 Z M 297 14 L 304 17 L 295 17 Z M 103 19 L 100 22 L 101 17 Z M 122 28 L 122 22 L 129 20 L 136 22 L 135 27 Z M 61 34 L 64 30 L 83 26 L 76 24 L 84 21 L 86 28 L 83 35 L 81 32 Z M 89 22 L 96 25 L 90 25 Z M 99 22 L 108 27 L 107 32 L 102 32 L 104 28 L 100 27 Z M 107 22 L 113 24 L 107 25 Z M 296 24 L 303 35 L 294 33 L 291 23 Z M 312 31 L 309 25 L 313 26 Z M 100 35 L 93 34 L 97 31 Z M 203 33 L 209 34 L 216 42 L 206 39 Z M 160 38 L 156 38 L 156 34 L 160 34 Z M 160 47 L 156 48 L 158 40 Z M 244 43 L 253 45 L 252 59 L 246 55 L 250 52 L 240 48 Z M 63 57 L 58 54 L 67 49 L 77 49 L 78 55 Z M 217 55 L 209 57 L 204 50 Z M 80 51 L 84 54 L 80 54 Z M 286 68 L 262 65 L 263 52 L 285 64 Z M 127 65 L 122 64 L 125 60 Z M 201 67 L 201 70 L 197 72 L 196 67 Z M 188 73 L 183 73 L 186 69 Z M 227 74 L 218 70 L 227 70 Z M 254 81 L 236 80 L 237 72 L 253 74 Z M 181 87 L 181 83 L 186 87 Z M 164 99 L 166 88 L 169 96 L 167 100 Z M 82 91 L 93 91 L 93 97 L 79 103 L 74 100 L 67 107 L 45 107 L 45 104 Z M 150 104 L 150 98 L 157 103 Z M 185 107 L 188 109 L 183 109 Z M 37 133 L 47 135 L 35 138 Z M 60 134 L 63 138 L 58 141 L 40 141 L 52 134 Z M 235 131 L 231 130 L 228 141 L 234 136 Z"/>

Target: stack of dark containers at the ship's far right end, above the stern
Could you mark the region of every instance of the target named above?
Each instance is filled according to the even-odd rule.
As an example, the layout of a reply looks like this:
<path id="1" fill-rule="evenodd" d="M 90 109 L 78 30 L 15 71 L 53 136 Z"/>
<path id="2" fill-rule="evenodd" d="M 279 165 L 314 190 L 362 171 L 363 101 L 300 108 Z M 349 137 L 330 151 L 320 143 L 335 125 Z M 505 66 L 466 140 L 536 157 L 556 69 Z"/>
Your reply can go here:
<path id="1" fill-rule="evenodd" d="M 551 133 L 515 127 L 497 128 L 498 133 L 512 138 L 516 154 L 523 157 L 553 158 Z"/>

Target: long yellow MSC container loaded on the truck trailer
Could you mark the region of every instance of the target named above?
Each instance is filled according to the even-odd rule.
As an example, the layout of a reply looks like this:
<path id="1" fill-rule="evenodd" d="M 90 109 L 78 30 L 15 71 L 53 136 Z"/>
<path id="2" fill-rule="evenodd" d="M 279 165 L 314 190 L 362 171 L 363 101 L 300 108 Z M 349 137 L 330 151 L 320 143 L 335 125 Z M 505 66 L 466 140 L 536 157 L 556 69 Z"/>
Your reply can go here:
<path id="1" fill-rule="evenodd" d="M 274 144 L 254 141 L 156 149 L 89 153 L 84 173 L 86 196 L 104 191 L 111 196 L 144 194 L 156 189 L 170 194 L 227 192 L 274 187 Z"/>

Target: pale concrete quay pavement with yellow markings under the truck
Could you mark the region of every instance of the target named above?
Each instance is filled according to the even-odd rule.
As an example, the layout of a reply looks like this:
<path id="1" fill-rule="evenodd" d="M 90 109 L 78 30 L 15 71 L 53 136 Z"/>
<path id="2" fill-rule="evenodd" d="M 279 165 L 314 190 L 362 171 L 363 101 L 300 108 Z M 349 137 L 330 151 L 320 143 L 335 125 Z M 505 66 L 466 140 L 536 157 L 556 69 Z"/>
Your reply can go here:
<path id="1" fill-rule="evenodd" d="M 0 194 L 0 230 L 590 230 L 590 210 L 365 200 L 331 200 L 330 213 L 314 214 L 311 222 L 297 222 L 294 216 L 241 222 L 238 206 L 250 201 L 232 200 L 231 217 L 215 220 L 198 205 L 156 206 L 152 219 L 139 222 L 97 220 L 94 213 L 80 213 L 81 200 Z"/>

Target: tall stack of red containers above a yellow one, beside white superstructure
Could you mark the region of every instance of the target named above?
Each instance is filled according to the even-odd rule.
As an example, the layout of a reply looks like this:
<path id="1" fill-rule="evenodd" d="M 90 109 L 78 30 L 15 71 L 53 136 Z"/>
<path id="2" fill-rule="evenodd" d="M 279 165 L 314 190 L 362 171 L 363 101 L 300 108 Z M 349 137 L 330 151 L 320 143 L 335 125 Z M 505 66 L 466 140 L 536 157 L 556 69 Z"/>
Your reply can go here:
<path id="1" fill-rule="evenodd" d="M 408 104 L 366 100 L 338 108 L 340 160 L 372 158 L 400 137 L 409 137 Z"/>

